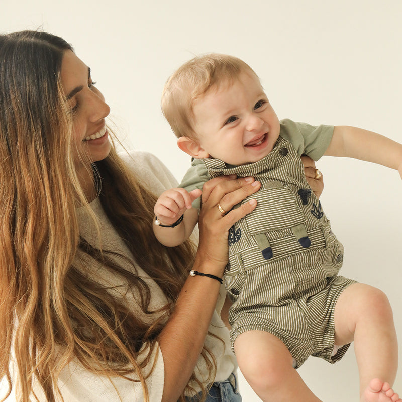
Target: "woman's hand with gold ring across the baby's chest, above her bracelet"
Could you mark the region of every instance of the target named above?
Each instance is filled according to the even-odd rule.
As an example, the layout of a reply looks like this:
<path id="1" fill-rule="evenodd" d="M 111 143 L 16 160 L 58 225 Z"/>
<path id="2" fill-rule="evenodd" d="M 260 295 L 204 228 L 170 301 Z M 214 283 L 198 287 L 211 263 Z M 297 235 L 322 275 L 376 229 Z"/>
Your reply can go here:
<path id="1" fill-rule="evenodd" d="M 199 213 L 199 245 L 197 257 L 201 256 L 223 269 L 228 262 L 228 232 L 231 226 L 254 210 L 257 202 L 249 200 L 239 208 L 232 208 L 249 195 L 257 192 L 260 182 L 253 177 L 216 177 L 203 186 L 202 207 Z M 213 264 L 211 264 L 213 262 Z"/>

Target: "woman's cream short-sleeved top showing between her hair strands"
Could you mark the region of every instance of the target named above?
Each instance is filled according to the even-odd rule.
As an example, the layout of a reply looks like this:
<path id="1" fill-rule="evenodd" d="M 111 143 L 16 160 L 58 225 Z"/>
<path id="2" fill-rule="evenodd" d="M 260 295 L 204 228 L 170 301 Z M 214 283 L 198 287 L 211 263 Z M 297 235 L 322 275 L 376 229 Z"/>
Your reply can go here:
<path id="1" fill-rule="evenodd" d="M 147 152 L 132 152 L 130 156 L 125 156 L 124 159 L 137 174 L 138 179 L 155 195 L 160 195 L 164 190 L 177 186 L 177 181 L 163 163 L 154 155 Z M 107 219 L 100 202 L 95 199 L 90 204 L 93 212 L 99 220 L 99 225 L 102 233 L 102 243 L 105 249 L 112 249 L 118 253 L 131 256 L 124 242 L 120 239 L 112 224 Z M 78 209 L 78 217 L 80 219 L 80 233 L 89 243 L 98 246 L 97 231 L 93 221 L 85 218 L 84 209 Z M 150 223 L 151 224 L 151 223 Z M 113 247 L 113 248 L 111 248 Z M 121 261 L 121 260 L 120 260 Z M 136 267 L 138 274 L 150 286 L 151 290 L 151 307 L 162 306 L 166 302 L 166 298 L 158 287 L 158 285 L 150 279 L 147 274 L 140 268 Z M 125 299 L 128 306 L 132 306 L 134 310 L 140 310 L 136 302 L 136 294 L 133 291 L 127 292 L 125 283 L 110 272 L 96 266 L 91 266 L 91 277 L 102 284 L 113 286 L 111 290 L 115 296 Z M 119 285 L 119 286 L 116 286 Z M 223 381 L 237 368 L 236 358 L 230 350 L 229 331 L 225 327 L 220 318 L 226 292 L 225 287 L 221 287 L 220 296 L 218 299 L 216 311 L 213 314 L 209 331 L 223 341 L 220 342 L 212 336 L 207 336 L 206 346 L 214 354 L 217 360 L 217 375 L 215 381 Z M 137 308 L 136 308 L 137 306 Z M 202 307 L 200 307 L 202 308 Z M 158 402 L 162 398 L 164 384 L 164 364 L 163 356 L 159 347 L 153 351 L 154 359 L 151 359 L 149 365 L 145 368 L 151 370 L 151 366 L 155 361 L 151 375 L 147 378 L 146 383 L 150 400 Z M 205 366 L 203 358 L 199 358 L 195 373 L 200 380 L 205 380 L 208 377 L 208 370 Z M 132 377 L 133 378 L 133 377 Z M 72 361 L 66 366 L 59 377 L 58 381 L 60 391 L 65 402 L 139 402 L 144 400 L 141 383 L 131 382 L 123 378 L 114 377 L 111 382 L 107 377 L 92 373 L 84 369 L 77 361 Z M 194 384 L 194 387 L 195 384 Z M 37 396 L 42 401 L 45 397 L 40 389 L 37 390 Z M 13 388 L 14 391 L 14 388 Z M 120 399 L 119 399 L 120 398 Z M 10 399 L 8 399 L 9 401 Z M 11 399 L 12 400 L 12 399 Z"/>

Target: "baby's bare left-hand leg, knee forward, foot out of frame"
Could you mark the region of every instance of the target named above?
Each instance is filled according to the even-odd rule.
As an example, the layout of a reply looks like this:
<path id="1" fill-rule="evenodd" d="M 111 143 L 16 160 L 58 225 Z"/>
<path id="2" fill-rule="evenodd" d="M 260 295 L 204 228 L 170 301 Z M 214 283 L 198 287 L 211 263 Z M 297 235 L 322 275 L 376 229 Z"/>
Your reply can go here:
<path id="1" fill-rule="evenodd" d="M 319 402 L 293 368 L 293 358 L 274 335 L 248 331 L 235 340 L 235 353 L 244 378 L 264 401 Z"/>

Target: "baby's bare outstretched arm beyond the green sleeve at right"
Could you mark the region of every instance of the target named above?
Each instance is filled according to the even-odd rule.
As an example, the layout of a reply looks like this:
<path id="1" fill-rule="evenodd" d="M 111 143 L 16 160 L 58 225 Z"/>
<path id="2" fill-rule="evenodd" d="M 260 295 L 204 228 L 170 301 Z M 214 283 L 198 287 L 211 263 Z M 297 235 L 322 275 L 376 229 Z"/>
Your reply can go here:
<path id="1" fill-rule="evenodd" d="M 397 169 L 402 177 L 402 144 L 372 131 L 335 126 L 329 156 L 346 156 Z"/>

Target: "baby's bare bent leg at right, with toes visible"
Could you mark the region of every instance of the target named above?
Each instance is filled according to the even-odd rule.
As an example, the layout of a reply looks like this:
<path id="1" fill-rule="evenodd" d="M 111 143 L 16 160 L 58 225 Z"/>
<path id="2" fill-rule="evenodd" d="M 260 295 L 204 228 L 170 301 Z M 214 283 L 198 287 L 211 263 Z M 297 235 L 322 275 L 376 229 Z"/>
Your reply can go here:
<path id="1" fill-rule="evenodd" d="M 352 341 L 359 367 L 360 400 L 398 400 L 393 391 L 393 396 L 383 392 L 385 383 L 393 384 L 398 363 L 392 310 L 384 293 L 360 283 L 348 286 L 335 306 L 335 344 Z"/>

